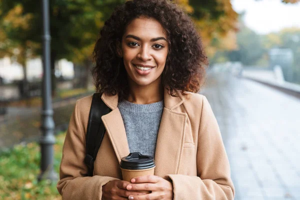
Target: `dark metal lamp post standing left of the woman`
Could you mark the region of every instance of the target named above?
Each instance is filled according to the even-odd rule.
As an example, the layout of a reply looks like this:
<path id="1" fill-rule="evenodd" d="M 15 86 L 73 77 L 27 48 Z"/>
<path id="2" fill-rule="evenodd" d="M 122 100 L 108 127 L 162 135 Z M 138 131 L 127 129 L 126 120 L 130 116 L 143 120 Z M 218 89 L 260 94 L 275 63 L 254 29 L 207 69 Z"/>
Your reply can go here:
<path id="1" fill-rule="evenodd" d="M 40 137 L 40 174 L 38 180 L 49 179 L 56 181 L 58 176 L 53 170 L 53 144 L 54 121 L 51 102 L 51 70 L 50 70 L 50 31 L 49 31 L 49 3 L 48 0 L 42 0 L 43 17 L 43 81 L 42 81 L 42 111 L 41 111 L 41 131 Z"/>

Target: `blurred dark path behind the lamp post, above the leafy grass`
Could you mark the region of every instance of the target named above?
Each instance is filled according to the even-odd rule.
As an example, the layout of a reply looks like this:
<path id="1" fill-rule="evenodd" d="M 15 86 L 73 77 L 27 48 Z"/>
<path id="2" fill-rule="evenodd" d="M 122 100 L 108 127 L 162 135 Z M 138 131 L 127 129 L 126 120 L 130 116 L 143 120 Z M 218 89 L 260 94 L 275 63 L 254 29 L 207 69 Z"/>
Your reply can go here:
<path id="1" fill-rule="evenodd" d="M 83 95 L 52 103 L 55 133 L 66 130 L 75 102 L 81 97 Z M 7 114 L 0 116 L 0 148 L 38 140 L 41 135 L 40 111 L 39 107 L 8 107 Z"/>

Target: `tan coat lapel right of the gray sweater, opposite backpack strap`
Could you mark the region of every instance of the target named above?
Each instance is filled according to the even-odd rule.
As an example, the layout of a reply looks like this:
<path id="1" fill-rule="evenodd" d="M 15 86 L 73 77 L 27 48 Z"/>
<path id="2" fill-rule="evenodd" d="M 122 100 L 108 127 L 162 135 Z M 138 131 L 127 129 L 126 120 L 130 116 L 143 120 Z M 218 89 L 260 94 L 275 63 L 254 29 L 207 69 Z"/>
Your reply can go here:
<path id="1" fill-rule="evenodd" d="M 187 115 L 173 109 L 183 101 L 181 95 L 173 97 L 167 94 L 167 91 L 164 93 L 165 107 L 161 116 L 154 157 L 155 175 L 164 176 L 164 174 L 179 172 Z"/>

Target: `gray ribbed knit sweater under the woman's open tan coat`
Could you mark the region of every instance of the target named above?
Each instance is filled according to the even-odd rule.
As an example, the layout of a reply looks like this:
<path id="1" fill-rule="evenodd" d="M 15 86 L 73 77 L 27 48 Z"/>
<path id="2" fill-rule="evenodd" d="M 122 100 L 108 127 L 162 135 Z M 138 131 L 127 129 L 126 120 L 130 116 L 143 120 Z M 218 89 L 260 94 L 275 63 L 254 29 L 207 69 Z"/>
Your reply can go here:
<path id="1" fill-rule="evenodd" d="M 150 104 L 118 103 L 130 152 L 154 156 L 163 100 Z"/>

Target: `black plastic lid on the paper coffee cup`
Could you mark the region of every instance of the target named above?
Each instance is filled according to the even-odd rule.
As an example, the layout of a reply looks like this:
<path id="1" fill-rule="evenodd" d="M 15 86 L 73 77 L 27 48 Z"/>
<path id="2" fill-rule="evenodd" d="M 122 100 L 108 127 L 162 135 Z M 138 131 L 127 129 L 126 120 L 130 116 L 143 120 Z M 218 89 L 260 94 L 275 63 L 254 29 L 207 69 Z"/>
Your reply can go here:
<path id="1" fill-rule="evenodd" d="M 123 169 L 147 169 L 155 166 L 154 158 L 148 155 L 142 155 L 139 152 L 129 153 L 122 157 L 120 167 Z"/>

